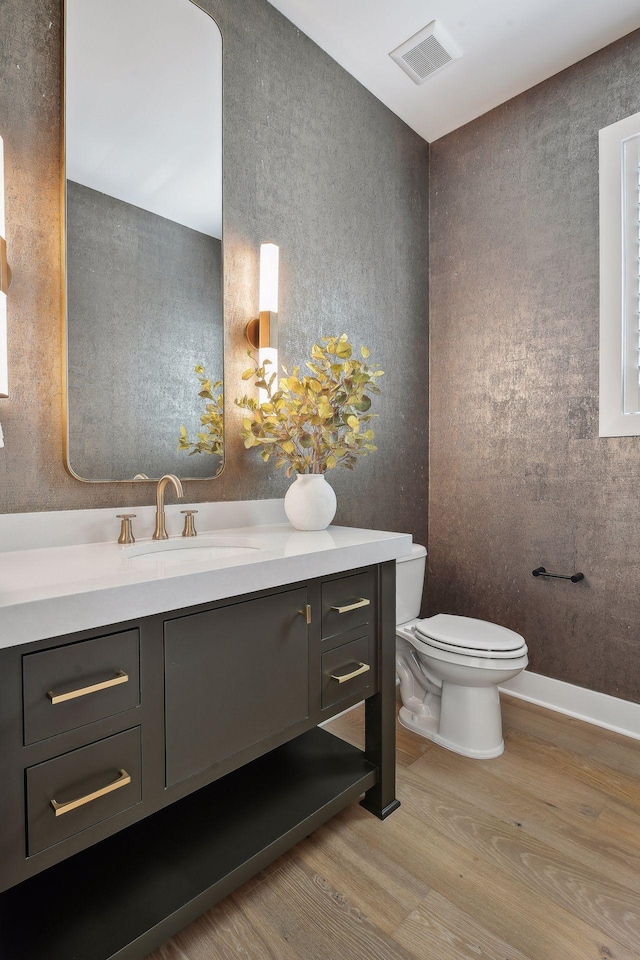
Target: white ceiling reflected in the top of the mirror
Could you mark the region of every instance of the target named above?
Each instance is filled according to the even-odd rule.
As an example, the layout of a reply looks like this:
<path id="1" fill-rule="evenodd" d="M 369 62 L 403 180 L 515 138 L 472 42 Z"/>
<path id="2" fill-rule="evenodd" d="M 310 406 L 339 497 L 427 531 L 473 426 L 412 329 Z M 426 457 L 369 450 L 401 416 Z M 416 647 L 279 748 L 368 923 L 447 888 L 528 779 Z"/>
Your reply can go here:
<path id="1" fill-rule="evenodd" d="M 66 0 L 69 180 L 222 236 L 222 37 L 190 0 Z"/>

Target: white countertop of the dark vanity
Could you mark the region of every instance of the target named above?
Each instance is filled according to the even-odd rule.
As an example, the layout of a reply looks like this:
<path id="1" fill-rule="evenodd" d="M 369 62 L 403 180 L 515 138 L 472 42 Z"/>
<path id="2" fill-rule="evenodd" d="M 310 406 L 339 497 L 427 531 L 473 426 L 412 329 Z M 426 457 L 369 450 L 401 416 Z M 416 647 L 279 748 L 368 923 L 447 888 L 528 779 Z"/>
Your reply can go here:
<path id="1" fill-rule="evenodd" d="M 296 583 L 407 556 L 411 536 L 352 527 L 319 532 L 288 523 L 200 531 L 211 537 L 248 538 L 259 548 L 144 553 L 133 547 L 81 543 L 0 553 L 0 647 L 109 627 L 255 590 Z M 171 540 L 179 541 L 180 537 Z M 155 544 L 153 545 L 155 546 Z"/>

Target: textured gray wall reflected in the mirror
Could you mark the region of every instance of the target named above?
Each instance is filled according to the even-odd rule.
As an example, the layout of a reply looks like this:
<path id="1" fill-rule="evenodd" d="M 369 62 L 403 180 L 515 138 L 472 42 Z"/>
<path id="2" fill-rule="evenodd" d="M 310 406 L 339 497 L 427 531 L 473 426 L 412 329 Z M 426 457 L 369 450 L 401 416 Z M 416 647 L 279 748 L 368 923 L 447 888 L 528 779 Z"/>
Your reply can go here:
<path id="1" fill-rule="evenodd" d="M 212 477 L 220 458 L 178 452 L 223 376 L 221 243 L 67 183 L 69 463 L 85 480 Z"/>

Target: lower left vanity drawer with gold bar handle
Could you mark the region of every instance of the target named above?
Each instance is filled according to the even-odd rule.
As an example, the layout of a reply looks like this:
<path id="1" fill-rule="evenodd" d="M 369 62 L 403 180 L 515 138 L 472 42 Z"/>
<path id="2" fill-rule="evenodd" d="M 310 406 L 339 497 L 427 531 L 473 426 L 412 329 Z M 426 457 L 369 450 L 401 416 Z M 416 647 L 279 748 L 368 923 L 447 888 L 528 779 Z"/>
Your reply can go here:
<path id="1" fill-rule="evenodd" d="M 29 856 L 140 803 L 140 767 L 140 727 L 29 767 Z"/>

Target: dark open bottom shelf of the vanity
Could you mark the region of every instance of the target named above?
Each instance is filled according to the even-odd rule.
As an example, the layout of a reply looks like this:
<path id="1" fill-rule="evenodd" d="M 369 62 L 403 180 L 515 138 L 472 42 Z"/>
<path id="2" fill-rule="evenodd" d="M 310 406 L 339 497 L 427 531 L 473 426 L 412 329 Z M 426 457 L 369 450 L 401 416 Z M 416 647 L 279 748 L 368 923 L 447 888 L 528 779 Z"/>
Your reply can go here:
<path id="1" fill-rule="evenodd" d="M 314 728 L 0 895 L 3 960 L 143 956 L 376 783 Z"/>

